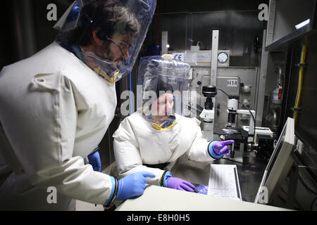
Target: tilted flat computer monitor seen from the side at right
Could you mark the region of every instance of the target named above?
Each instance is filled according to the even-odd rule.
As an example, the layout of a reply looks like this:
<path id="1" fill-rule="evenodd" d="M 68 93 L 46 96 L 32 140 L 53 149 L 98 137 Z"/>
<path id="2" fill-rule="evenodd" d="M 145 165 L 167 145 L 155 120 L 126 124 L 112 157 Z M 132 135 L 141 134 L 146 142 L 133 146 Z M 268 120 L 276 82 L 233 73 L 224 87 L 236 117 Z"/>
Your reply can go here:
<path id="1" fill-rule="evenodd" d="M 292 167 L 291 153 L 294 149 L 294 138 L 294 119 L 288 117 L 264 171 L 254 203 L 272 203 L 278 194 L 282 182 Z"/>

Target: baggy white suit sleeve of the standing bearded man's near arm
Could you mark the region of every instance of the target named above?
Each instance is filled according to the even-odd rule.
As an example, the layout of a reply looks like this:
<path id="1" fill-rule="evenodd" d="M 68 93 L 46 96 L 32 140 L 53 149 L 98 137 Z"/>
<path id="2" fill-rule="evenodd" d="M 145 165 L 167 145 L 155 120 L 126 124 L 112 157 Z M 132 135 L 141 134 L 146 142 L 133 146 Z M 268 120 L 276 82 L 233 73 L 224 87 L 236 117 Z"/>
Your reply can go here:
<path id="1" fill-rule="evenodd" d="M 30 184 L 54 186 L 70 198 L 104 204 L 111 195 L 111 177 L 73 155 L 79 112 L 70 80 L 58 72 L 35 75 L 27 90 L 19 84 L 14 88 L 23 98 L 15 98 L 13 105 L 10 92 L 2 95 L 1 107 L 7 112 L 0 119 Z"/>

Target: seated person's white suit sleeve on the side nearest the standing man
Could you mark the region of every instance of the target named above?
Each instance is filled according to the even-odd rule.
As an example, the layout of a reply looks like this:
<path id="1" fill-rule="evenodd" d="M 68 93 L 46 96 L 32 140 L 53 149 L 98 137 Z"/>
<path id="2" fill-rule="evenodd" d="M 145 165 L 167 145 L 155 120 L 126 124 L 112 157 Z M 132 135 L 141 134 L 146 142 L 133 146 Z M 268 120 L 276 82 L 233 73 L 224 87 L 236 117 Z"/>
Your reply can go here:
<path id="1" fill-rule="evenodd" d="M 147 171 L 155 175 L 154 178 L 147 178 L 147 184 L 160 186 L 162 175 L 165 171 L 143 165 L 139 152 L 139 143 L 128 117 L 120 123 L 113 134 L 113 150 L 120 177 L 128 176 L 135 172 Z"/>

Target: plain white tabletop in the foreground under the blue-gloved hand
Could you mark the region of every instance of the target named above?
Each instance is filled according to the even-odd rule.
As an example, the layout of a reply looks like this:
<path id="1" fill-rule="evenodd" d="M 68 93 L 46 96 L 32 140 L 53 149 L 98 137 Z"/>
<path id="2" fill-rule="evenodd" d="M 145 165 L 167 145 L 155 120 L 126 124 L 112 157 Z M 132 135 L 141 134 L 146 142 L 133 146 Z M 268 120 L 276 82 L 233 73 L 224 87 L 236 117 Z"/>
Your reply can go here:
<path id="1" fill-rule="evenodd" d="M 118 211 L 280 211 L 268 205 L 149 185 L 143 195 L 125 200 Z"/>

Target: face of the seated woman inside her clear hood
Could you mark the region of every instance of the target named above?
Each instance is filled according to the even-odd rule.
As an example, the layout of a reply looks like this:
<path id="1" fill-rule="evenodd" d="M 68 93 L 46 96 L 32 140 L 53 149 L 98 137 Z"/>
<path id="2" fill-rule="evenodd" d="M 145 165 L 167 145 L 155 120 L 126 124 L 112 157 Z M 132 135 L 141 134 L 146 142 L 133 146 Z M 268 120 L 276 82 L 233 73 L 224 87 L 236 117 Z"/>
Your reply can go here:
<path id="1" fill-rule="evenodd" d="M 173 94 L 166 93 L 152 104 L 151 115 L 154 119 L 166 118 L 173 113 L 174 98 Z"/>

